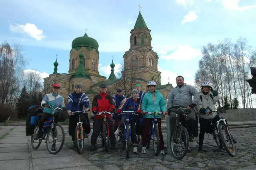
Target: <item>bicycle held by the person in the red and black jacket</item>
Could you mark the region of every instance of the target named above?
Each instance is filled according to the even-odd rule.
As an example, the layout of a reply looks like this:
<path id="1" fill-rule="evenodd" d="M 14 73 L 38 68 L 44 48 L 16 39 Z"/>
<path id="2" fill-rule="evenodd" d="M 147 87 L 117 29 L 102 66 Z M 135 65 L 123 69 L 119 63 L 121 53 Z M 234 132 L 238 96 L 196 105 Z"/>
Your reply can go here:
<path id="1" fill-rule="evenodd" d="M 105 151 L 109 150 L 109 126 L 107 123 L 107 115 L 112 115 L 110 112 L 104 111 L 99 112 L 98 115 L 104 115 L 104 119 L 102 120 L 102 130 L 100 130 L 99 137 L 101 137 L 102 146 L 104 146 Z"/>

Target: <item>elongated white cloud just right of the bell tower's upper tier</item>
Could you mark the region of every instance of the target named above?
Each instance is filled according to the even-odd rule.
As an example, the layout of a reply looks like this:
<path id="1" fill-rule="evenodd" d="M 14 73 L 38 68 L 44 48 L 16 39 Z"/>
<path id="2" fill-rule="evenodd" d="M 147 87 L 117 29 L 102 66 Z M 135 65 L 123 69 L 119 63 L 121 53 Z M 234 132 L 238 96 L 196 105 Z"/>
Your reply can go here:
<path id="1" fill-rule="evenodd" d="M 190 60 L 198 56 L 202 56 L 200 49 L 194 49 L 189 45 L 181 45 L 173 53 L 170 53 L 169 55 L 161 55 L 160 58 L 166 60 Z"/>

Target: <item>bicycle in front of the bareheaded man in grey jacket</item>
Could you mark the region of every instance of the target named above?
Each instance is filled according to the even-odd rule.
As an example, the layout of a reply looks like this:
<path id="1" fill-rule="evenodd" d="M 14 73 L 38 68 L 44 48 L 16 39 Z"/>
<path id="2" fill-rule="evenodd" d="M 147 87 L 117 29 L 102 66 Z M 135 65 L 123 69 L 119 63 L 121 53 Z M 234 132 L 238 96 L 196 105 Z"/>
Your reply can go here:
<path id="1" fill-rule="evenodd" d="M 175 115 L 175 119 L 176 119 L 174 130 L 170 138 L 171 152 L 174 158 L 180 160 L 188 152 L 190 143 L 189 143 L 188 130 L 182 126 L 179 119 L 183 116 L 188 116 L 187 114 L 189 114 L 190 111 L 183 107 L 178 108 L 176 111 L 173 111 L 173 110 L 171 111 L 172 111 L 171 115 Z M 182 146 L 182 143 L 184 144 L 184 146 Z M 174 144 L 177 144 L 177 148 L 176 146 L 174 146 Z M 175 153 L 176 151 L 178 152 Z"/>

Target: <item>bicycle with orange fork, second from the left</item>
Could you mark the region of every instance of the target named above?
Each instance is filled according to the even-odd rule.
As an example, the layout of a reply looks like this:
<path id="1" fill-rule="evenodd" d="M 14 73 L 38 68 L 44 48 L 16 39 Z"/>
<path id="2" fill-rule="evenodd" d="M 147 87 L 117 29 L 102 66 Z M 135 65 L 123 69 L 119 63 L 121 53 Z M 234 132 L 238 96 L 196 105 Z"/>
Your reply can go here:
<path id="1" fill-rule="evenodd" d="M 81 114 L 85 114 L 86 111 L 75 111 L 72 112 L 71 115 L 78 115 L 78 122 L 76 123 L 76 129 L 75 129 L 75 139 L 76 139 L 76 145 L 77 145 L 77 152 L 81 154 L 84 152 L 84 136 L 83 136 L 83 126 L 81 122 Z"/>

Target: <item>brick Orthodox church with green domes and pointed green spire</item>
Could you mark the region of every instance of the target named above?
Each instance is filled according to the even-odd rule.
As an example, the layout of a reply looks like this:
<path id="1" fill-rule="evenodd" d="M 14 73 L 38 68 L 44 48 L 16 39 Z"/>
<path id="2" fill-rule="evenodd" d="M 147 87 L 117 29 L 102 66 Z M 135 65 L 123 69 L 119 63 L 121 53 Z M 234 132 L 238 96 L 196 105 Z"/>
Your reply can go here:
<path id="1" fill-rule="evenodd" d="M 170 83 L 161 85 L 161 72 L 158 71 L 158 55 L 152 50 L 150 35 L 141 12 L 134 28 L 130 31 L 130 49 L 124 52 L 124 68 L 122 77 L 116 78 L 114 74 L 114 62 L 110 64 L 111 74 L 105 77 L 99 74 L 99 51 L 98 42 L 87 35 L 75 38 L 70 50 L 69 70 L 67 73 L 58 73 L 57 59 L 54 62 L 54 72 L 44 78 L 44 93 L 51 93 L 54 83 L 60 84 L 60 95 L 67 101 L 67 97 L 74 91 L 77 83 L 82 84 L 82 91 L 90 98 L 90 104 L 94 95 L 99 93 L 99 85 L 104 83 L 108 87 L 108 93 L 114 95 L 119 88 L 132 89 L 139 83 L 141 89 L 146 91 L 146 83 L 154 80 L 159 90 L 167 99 L 170 90 L 173 88 Z M 126 87 L 130 85 L 130 87 Z M 125 87 L 124 87 L 125 86 Z"/>

